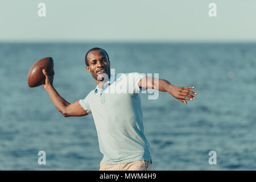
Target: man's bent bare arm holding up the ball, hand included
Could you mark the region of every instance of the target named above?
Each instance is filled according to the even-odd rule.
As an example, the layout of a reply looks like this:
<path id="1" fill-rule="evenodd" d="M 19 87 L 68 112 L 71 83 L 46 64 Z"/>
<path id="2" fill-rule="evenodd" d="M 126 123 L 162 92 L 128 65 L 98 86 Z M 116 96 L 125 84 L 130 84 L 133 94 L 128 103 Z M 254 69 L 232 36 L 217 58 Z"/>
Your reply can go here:
<path id="1" fill-rule="evenodd" d="M 57 91 L 53 87 L 54 71 L 53 75 L 51 76 L 48 76 L 45 69 L 43 69 L 42 72 L 44 76 L 46 76 L 46 81 L 44 82 L 44 89 L 47 90 L 53 104 L 55 105 L 57 110 L 59 110 L 60 113 L 63 114 L 64 117 L 83 116 L 88 114 L 87 111 L 84 110 L 84 108 L 82 108 L 82 106 L 79 104 L 79 101 L 70 104 L 69 102 L 65 101 L 64 98 L 59 95 L 59 93 L 57 93 Z"/>

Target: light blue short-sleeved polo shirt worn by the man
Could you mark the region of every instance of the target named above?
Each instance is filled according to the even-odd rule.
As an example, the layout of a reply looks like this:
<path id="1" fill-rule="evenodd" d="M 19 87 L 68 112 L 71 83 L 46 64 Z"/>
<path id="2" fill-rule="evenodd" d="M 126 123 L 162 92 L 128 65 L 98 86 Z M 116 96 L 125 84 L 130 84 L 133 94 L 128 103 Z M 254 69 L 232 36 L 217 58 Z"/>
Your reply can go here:
<path id="1" fill-rule="evenodd" d="M 92 113 L 104 164 L 151 160 L 144 135 L 138 82 L 144 73 L 111 75 L 102 89 L 92 90 L 80 105 Z"/>

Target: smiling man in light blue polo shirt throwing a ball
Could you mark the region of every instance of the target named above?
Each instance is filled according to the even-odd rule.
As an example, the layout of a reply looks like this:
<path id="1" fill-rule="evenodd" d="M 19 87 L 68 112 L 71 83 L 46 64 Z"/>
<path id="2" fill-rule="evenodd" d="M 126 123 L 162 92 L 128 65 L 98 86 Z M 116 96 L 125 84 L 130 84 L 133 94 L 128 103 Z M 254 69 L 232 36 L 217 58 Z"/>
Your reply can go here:
<path id="1" fill-rule="evenodd" d="M 53 104 L 64 117 L 84 116 L 92 113 L 100 151 L 104 155 L 100 170 L 150 170 L 152 165 L 150 144 L 143 131 L 143 116 L 139 92 L 153 88 L 168 92 L 177 100 L 195 99 L 197 94 L 189 89 L 171 85 L 163 79 L 147 77 L 141 73 L 110 73 L 108 53 L 101 48 L 92 48 L 85 55 L 86 69 L 97 83 L 83 100 L 69 104 L 53 87 L 53 76 L 46 76 L 44 89 Z M 117 88 L 127 92 L 117 93 Z M 129 90 L 129 91 L 128 91 Z"/>

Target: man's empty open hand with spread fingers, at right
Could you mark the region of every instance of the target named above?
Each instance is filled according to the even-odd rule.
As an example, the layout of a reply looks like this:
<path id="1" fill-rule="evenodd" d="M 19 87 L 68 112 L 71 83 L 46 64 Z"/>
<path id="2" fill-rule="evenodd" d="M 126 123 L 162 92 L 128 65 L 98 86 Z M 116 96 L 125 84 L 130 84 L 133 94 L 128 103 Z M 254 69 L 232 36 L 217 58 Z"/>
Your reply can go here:
<path id="1" fill-rule="evenodd" d="M 192 96 L 191 94 L 197 95 L 197 93 L 189 90 L 194 88 L 195 86 L 181 87 L 181 86 L 171 85 L 170 88 L 167 90 L 167 92 L 170 93 L 172 96 L 174 96 L 177 100 L 187 104 L 186 100 L 192 101 L 192 99 L 196 99 L 196 97 Z"/>

